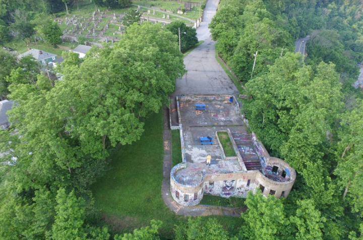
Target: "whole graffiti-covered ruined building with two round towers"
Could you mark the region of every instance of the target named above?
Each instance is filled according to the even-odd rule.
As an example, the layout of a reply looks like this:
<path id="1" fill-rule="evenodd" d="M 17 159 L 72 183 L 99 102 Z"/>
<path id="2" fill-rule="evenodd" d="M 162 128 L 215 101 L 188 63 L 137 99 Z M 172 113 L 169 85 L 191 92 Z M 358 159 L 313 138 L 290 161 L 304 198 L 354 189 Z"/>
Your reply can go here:
<path id="1" fill-rule="evenodd" d="M 196 109 L 205 104 L 205 109 Z M 183 162 L 170 173 L 170 192 L 184 206 L 200 203 L 204 194 L 247 197 L 261 189 L 264 195 L 287 197 L 296 173 L 285 161 L 271 157 L 241 115 L 233 96 L 183 96 L 177 98 Z M 217 133 L 228 133 L 235 151 L 226 157 Z M 200 137 L 212 137 L 201 144 Z M 210 154 L 212 161 L 206 165 Z"/>

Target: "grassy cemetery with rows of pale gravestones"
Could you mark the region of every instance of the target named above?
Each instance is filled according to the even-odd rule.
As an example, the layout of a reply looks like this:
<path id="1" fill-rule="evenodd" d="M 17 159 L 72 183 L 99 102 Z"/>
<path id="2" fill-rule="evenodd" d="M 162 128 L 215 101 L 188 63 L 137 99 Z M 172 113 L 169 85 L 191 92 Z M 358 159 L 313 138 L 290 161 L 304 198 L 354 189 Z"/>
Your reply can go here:
<path id="1" fill-rule="evenodd" d="M 157 3 L 155 2 L 155 4 Z M 166 9 L 155 10 L 144 7 L 143 5 L 144 2 L 140 2 L 139 5 L 132 7 L 136 11 L 142 12 L 141 22 L 151 21 L 153 23 L 165 25 L 171 21 L 180 20 L 187 23 L 189 26 L 194 26 L 194 19 L 197 18 L 197 15 L 192 15 L 191 13 L 188 16 L 188 18 L 190 18 L 189 20 L 173 15 L 170 16 L 168 14 L 170 11 L 166 11 Z M 150 7 L 150 5 L 145 5 Z M 175 13 L 177 10 L 176 8 L 179 8 L 179 5 L 181 6 L 182 4 L 175 2 L 175 7 L 173 8 L 175 9 Z M 80 6 L 79 10 L 75 7 L 70 8 L 70 15 L 55 18 L 54 21 L 59 24 L 59 27 L 63 31 L 63 43 L 65 41 L 77 41 L 78 36 L 86 37 L 90 42 L 114 42 L 119 40 L 125 32 L 125 27 L 122 25 L 122 18 L 127 10 L 128 9 L 110 10 L 107 8 L 98 8 L 94 4 L 86 4 Z M 172 12 L 170 13 L 172 14 Z"/>

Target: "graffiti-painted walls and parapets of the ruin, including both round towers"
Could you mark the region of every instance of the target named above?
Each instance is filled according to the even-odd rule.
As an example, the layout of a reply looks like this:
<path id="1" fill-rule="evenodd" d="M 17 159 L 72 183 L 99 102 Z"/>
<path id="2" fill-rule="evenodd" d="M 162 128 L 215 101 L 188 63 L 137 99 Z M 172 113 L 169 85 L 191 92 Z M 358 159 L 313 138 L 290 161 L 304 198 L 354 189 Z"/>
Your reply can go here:
<path id="1" fill-rule="evenodd" d="M 179 129 L 180 129 L 180 142 L 181 142 L 181 154 L 183 157 L 183 163 L 175 165 L 170 172 L 170 192 L 173 199 L 183 206 L 195 206 L 200 203 L 204 194 L 217 195 L 225 198 L 229 197 L 243 197 L 246 198 L 249 191 L 256 192 L 256 189 L 264 189 L 263 194 L 269 195 L 273 194 L 277 198 L 281 196 L 287 197 L 291 191 L 296 178 L 296 172 L 290 167 L 288 163 L 282 159 L 276 157 L 270 157 L 266 148 L 257 139 L 256 135 L 252 133 L 251 140 L 253 146 L 260 157 L 260 162 L 262 166 L 262 173 L 258 170 L 247 170 L 241 155 L 239 154 L 238 148 L 231 136 L 229 130 L 227 130 L 230 140 L 232 142 L 233 148 L 237 154 L 238 162 L 240 163 L 242 170 L 239 172 L 230 173 L 216 173 L 216 174 L 204 174 L 202 173 L 202 179 L 200 183 L 195 186 L 185 186 L 178 183 L 174 177 L 175 173 L 183 168 L 187 167 L 185 146 L 184 146 L 184 136 L 183 127 L 181 125 L 179 100 L 228 100 L 231 95 L 221 95 L 221 96 L 182 96 L 177 97 L 177 112 L 179 117 Z M 239 104 L 235 101 L 233 97 L 234 106 L 237 112 L 240 112 Z M 248 120 L 244 115 L 241 115 L 245 124 L 248 126 Z M 217 135 L 216 135 L 217 136 Z M 217 136 L 217 141 L 220 141 Z M 220 144 L 221 145 L 221 144 Z M 221 147 L 222 148 L 222 147 Z M 222 148 L 223 149 L 223 148 Z M 224 155 L 224 153 L 222 153 Z M 225 155 L 224 160 L 226 159 Z M 235 157 L 234 157 L 235 158 Z M 275 168 L 274 168 L 275 167 Z M 285 176 L 283 176 L 285 175 Z"/>

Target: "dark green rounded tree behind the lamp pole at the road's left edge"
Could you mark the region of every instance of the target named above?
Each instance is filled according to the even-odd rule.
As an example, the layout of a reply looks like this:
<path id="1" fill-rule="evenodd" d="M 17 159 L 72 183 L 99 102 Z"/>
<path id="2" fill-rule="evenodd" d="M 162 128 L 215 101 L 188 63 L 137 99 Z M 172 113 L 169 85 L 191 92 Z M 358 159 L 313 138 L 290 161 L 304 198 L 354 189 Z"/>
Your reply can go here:
<path id="1" fill-rule="evenodd" d="M 173 34 L 179 34 L 180 29 L 180 49 L 181 51 L 185 51 L 191 46 L 194 46 L 198 43 L 197 31 L 192 27 L 188 27 L 185 23 L 181 21 L 173 21 L 166 25 L 166 29 L 168 29 Z M 179 39 L 178 39 L 179 41 Z"/>

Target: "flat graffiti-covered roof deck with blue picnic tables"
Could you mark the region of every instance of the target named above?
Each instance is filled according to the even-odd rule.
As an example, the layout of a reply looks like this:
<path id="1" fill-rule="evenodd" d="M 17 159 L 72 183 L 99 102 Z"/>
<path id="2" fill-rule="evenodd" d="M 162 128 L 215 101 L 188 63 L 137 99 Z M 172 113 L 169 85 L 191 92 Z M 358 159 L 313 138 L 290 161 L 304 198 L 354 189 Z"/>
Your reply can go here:
<path id="1" fill-rule="evenodd" d="M 237 160 L 222 160 L 222 149 L 216 132 L 229 129 L 232 134 L 248 134 L 240 113 L 227 101 L 180 101 L 180 116 L 187 168 L 175 172 L 175 179 L 183 185 L 194 185 L 204 174 L 238 172 L 243 170 Z M 195 104 L 205 104 L 205 110 L 196 110 Z M 201 144 L 200 137 L 210 136 L 213 144 Z M 207 155 L 212 157 L 206 165 Z"/>

